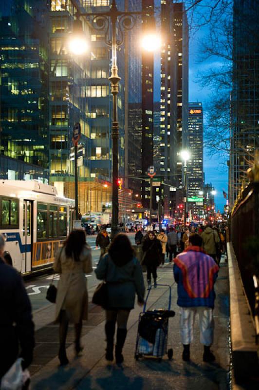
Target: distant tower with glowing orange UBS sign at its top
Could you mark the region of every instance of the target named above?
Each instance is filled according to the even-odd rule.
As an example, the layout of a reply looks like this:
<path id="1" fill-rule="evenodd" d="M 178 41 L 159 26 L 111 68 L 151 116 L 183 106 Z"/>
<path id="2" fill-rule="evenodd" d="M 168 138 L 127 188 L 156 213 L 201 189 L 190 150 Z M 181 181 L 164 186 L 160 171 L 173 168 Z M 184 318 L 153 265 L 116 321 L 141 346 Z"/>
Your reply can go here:
<path id="1" fill-rule="evenodd" d="M 188 192 L 187 196 L 199 196 L 203 190 L 203 105 L 201 102 L 189 103 L 188 120 L 188 148 L 190 160 L 188 166 Z M 188 204 L 192 214 L 199 214 L 202 206 L 196 203 Z"/>

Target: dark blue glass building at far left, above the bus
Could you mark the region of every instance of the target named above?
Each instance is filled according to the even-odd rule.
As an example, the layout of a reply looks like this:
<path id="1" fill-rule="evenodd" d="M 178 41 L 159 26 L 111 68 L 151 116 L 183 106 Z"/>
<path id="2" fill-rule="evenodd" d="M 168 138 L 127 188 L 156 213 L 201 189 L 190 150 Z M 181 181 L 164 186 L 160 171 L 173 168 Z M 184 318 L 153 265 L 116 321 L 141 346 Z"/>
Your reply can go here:
<path id="1" fill-rule="evenodd" d="M 47 15 L 39 0 L 0 2 L 1 178 L 48 177 Z"/>

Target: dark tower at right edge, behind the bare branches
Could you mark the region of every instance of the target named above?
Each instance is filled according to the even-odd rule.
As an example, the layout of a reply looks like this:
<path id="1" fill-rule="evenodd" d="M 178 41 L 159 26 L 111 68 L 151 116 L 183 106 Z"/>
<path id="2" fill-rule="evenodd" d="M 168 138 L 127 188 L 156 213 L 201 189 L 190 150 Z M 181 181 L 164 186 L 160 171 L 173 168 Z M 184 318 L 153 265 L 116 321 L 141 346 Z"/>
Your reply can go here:
<path id="1" fill-rule="evenodd" d="M 233 206 L 259 147 L 257 0 L 234 0 L 229 202 Z"/>

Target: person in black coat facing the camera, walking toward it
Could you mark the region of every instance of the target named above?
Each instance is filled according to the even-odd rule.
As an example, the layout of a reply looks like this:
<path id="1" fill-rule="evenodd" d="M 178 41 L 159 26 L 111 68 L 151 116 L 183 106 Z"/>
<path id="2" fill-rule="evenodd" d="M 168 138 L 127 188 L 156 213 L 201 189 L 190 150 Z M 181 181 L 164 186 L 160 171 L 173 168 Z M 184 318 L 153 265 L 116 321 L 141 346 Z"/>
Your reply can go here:
<path id="1" fill-rule="evenodd" d="M 151 274 L 154 279 L 154 287 L 156 287 L 156 270 L 161 263 L 162 258 L 162 245 L 156 238 L 154 231 L 148 232 L 147 236 L 145 236 L 142 249 L 145 256 L 142 261 L 142 265 L 147 267 L 147 280 L 149 289 L 151 286 Z"/>

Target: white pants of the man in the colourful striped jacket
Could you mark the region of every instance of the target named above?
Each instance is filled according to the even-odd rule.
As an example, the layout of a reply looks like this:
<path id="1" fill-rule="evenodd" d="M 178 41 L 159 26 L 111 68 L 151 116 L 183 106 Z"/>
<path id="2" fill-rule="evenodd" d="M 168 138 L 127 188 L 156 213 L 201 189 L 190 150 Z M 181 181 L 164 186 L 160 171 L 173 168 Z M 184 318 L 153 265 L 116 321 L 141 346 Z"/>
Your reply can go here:
<path id="1" fill-rule="evenodd" d="M 213 310 L 208 307 L 180 308 L 180 333 L 183 344 L 193 341 L 195 314 L 199 315 L 200 341 L 203 345 L 213 343 L 214 320 Z"/>

